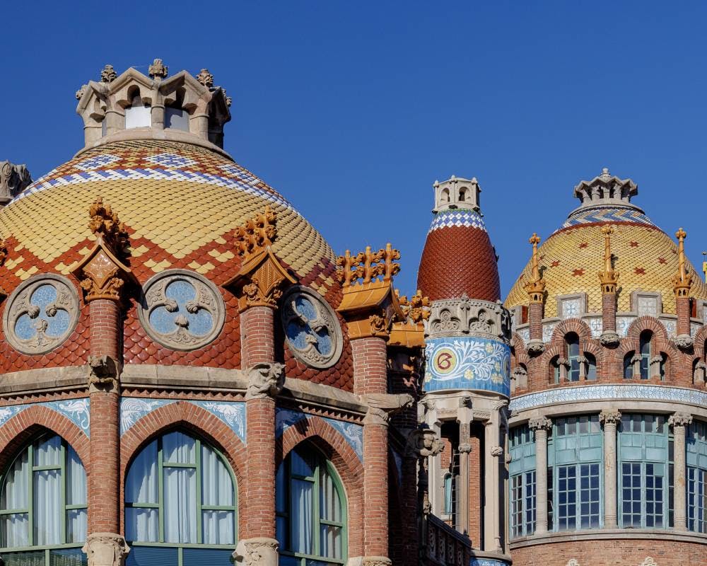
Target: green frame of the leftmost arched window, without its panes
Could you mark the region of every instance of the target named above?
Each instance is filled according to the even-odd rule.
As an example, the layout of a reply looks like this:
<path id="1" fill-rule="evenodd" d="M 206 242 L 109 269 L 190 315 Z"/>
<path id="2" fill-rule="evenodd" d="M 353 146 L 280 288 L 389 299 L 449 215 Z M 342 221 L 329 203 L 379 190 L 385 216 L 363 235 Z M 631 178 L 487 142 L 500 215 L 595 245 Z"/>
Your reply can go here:
<path id="1" fill-rule="evenodd" d="M 42 444 L 59 442 L 59 463 L 49 464 L 49 465 L 37 465 L 35 463 L 35 451 L 39 449 Z M 26 455 L 26 460 L 24 459 Z M 62 563 L 62 560 L 69 560 L 73 565 L 83 565 L 87 563 L 86 555 L 81 551 L 81 546 L 84 542 L 84 537 L 78 537 L 79 540 L 70 540 L 72 538 L 70 529 L 68 529 L 67 515 L 77 514 L 77 512 L 88 512 L 87 490 L 84 491 L 83 497 L 76 497 L 78 494 L 74 494 L 74 498 L 82 499 L 82 502 L 67 502 L 70 490 L 67 489 L 67 483 L 70 481 L 69 473 L 67 470 L 69 466 L 67 461 L 69 458 L 76 458 L 76 463 L 81 466 L 83 473 L 86 473 L 86 469 L 83 467 L 83 462 L 78 456 L 76 451 L 57 434 L 42 434 L 42 436 L 35 438 L 29 444 L 19 451 L 16 458 L 10 465 L 4 470 L 2 478 L 0 480 L 0 554 L 5 561 L 6 566 L 13 565 L 44 565 L 50 566 L 57 563 Z M 26 485 L 25 487 L 25 507 L 10 507 L 7 504 L 6 490 L 8 488 L 8 478 L 13 470 L 13 466 L 18 461 L 26 461 Z M 35 521 L 35 515 L 37 510 L 35 509 L 35 502 L 38 497 L 35 497 L 35 492 L 37 487 L 35 485 L 35 480 L 37 476 L 42 473 L 55 472 L 59 475 L 59 484 L 61 485 L 61 490 L 59 492 L 59 506 L 56 512 L 59 514 L 59 543 L 55 544 L 35 544 L 37 539 L 37 521 Z M 84 479 L 84 485 L 86 485 L 86 479 Z M 28 544 L 25 546 L 6 546 L 7 542 L 7 531 L 6 531 L 6 521 L 10 521 L 12 516 L 15 515 L 26 515 L 27 516 L 27 539 Z M 68 563 L 68 562 L 67 562 Z"/>

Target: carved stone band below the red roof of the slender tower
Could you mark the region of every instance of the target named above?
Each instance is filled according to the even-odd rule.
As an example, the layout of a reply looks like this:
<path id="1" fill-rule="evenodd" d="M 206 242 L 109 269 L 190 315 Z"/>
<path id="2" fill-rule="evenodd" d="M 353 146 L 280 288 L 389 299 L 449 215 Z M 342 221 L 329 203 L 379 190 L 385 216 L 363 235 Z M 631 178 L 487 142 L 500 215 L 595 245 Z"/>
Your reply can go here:
<path id="1" fill-rule="evenodd" d="M 459 299 L 433 301 L 425 323 L 426 337 L 472 335 L 510 342 L 510 313 L 501 301 L 481 301 L 462 295 Z"/>

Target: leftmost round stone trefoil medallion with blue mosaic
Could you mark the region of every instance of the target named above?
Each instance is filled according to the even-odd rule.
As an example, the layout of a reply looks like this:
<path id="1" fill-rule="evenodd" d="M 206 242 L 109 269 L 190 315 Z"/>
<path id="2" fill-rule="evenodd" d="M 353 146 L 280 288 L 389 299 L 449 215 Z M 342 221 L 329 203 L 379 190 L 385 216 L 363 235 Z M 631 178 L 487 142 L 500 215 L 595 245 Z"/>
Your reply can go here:
<path id="1" fill-rule="evenodd" d="M 78 294 L 60 275 L 35 275 L 21 284 L 3 314 L 5 338 L 23 354 L 46 354 L 74 332 Z"/>

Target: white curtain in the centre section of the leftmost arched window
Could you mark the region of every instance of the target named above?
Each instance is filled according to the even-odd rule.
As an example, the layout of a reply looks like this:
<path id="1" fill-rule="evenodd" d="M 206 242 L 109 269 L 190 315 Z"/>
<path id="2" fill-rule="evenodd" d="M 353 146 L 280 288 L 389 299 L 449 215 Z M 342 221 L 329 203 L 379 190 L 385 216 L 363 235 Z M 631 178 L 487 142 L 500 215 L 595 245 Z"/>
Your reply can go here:
<path id="1" fill-rule="evenodd" d="M 61 466 L 62 439 L 52 437 L 35 444 L 35 466 Z M 34 543 L 61 543 L 61 470 L 40 470 L 34 478 Z"/>

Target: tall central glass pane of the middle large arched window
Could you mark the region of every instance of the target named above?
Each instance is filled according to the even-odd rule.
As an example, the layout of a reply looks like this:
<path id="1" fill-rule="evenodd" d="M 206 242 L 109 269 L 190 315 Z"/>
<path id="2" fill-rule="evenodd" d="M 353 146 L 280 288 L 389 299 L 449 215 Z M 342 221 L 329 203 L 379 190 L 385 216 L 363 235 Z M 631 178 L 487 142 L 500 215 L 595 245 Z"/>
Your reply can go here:
<path id="1" fill-rule="evenodd" d="M 173 452 L 173 456 L 189 458 L 188 450 L 189 444 L 185 442 L 177 448 L 176 452 Z M 165 542 L 197 542 L 196 489 L 197 475 L 194 468 L 165 468 L 163 481 Z"/>

